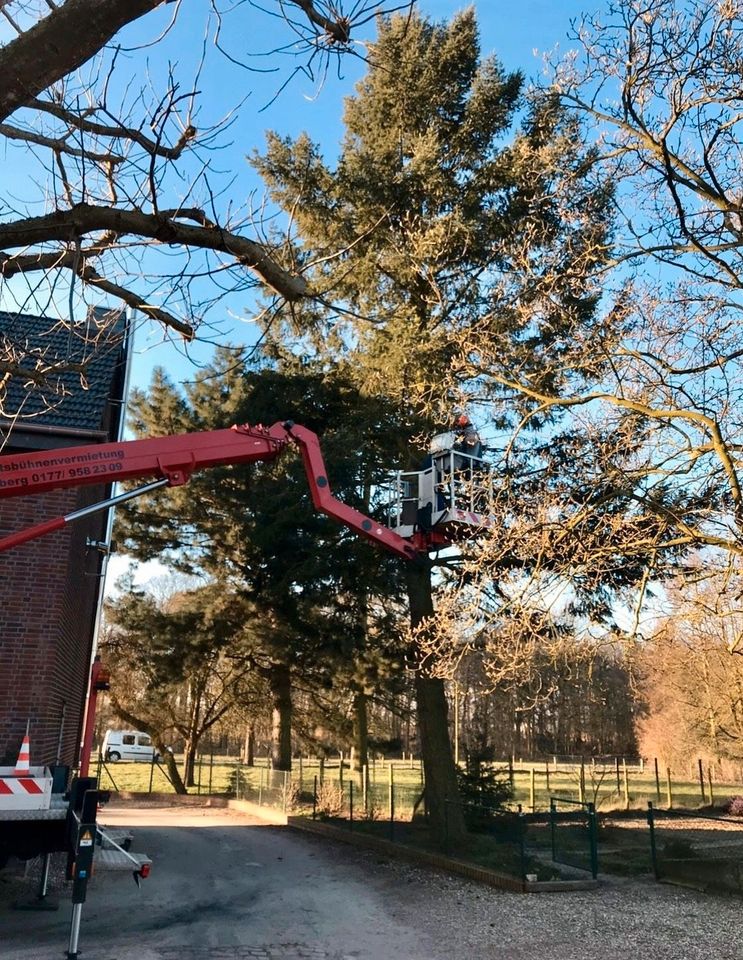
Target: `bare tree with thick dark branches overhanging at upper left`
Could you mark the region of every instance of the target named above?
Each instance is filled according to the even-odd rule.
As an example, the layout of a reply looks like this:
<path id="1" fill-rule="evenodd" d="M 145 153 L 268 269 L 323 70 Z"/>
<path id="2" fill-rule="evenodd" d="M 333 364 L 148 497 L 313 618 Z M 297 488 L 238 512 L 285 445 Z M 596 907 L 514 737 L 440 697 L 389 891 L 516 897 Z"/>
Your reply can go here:
<path id="1" fill-rule="evenodd" d="M 28 172 L 28 182 L 8 181 L 0 196 L 3 306 L 71 324 L 87 299 L 103 294 L 190 340 L 200 325 L 199 335 L 208 332 L 209 309 L 227 294 L 256 287 L 269 310 L 312 297 L 301 272 L 274 256 L 260 203 L 231 195 L 232 173 L 219 169 L 241 103 L 198 125 L 199 80 L 217 57 L 257 69 L 250 58 L 265 52 L 265 32 L 269 69 L 287 54 L 289 76 L 303 70 L 321 83 L 337 58 L 363 55 L 356 33 L 376 13 L 406 5 L 369 0 L 346 10 L 327 0 L 272 0 L 266 9 L 242 3 L 222 11 L 204 3 L 203 33 L 189 33 L 202 54 L 184 79 L 178 65 L 155 64 L 150 74 L 148 48 L 157 50 L 178 18 L 196 18 L 199 5 L 186 12 L 163 0 L 0 4 L 0 137 Z M 148 15 L 153 39 L 126 46 L 121 31 Z M 270 39 L 271 15 L 286 46 Z M 286 82 L 277 80 L 278 89 Z M 72 355 L 29 349 L 16 327 L 0 335 L 0 413 L 17 413 L 3 409 L 8 378 L 39 386 L 66 360 L 74 363 Z"/>

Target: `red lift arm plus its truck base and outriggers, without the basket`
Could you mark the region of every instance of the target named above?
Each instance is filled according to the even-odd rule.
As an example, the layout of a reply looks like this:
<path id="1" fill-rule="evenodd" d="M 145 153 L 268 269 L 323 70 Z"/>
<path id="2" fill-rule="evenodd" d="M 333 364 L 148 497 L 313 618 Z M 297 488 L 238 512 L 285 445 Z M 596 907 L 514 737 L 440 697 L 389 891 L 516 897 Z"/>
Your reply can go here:
<path id="1" fill-rule="evenodd" d="M 31 496 L 86 484 L 151 478 L 133 490 L 11 533 L 0 539 L 0 552 L 20 547 L 61 530 L 68 523 L 160 487 L 181 486 L 197 470 L 220 464 L 275 460 L 291 444 L 298 446 L 301 452 L 316 510 L 404 560 L 415 561 L 422 557 L 418 546 L 333 496 L 317 435 L 289 421 L 278 422 L 270 427 L 241 424 L 226 430 L 0 457 L 0 498 Z M 97 692 L 107 689 L 107 686 L 107 676 L 100 662 L 96 661 L 89 688 L 80 776 L 73 781 L 68 799 L 62 794 L 66 787 L 66 772 L 59 778 L 56 771 L 49 776 L 46 768 L 30 769 L 27 754 L 25 770 L 20 769 L 20 761 L 15 769 L 0 768 L 0 797 L 4 794 L 3 799 L 9 801 L 0 806 L 0 854 L 17 853 L 26 857 L 44 855 L 37 903 L 46 901 L 49 854 L 54 851 L 67 852 L 73 903 L 68 960 L 77 960 L 78 957 L 82 904 L 93 871 L 96 847 L 101 847 L 100 853 L 96 854 L 96 861 L 108 857 L 110 862 L 111 856 L 118 857 L 125 868 L 132 870 L 134 867 L 132 873 L 137 883 L 149 874 L 150 868 L 149 858 L 125 850 L 96 824 L 96 811 L 103 794 L 98 790 L 97 780 L 88 777 L 87 773 L 95 722 L 95 699 Z M 60 785 L 60 779 L 64 780 L 64 784 Z M 111 851 L 111 846 L 115 852 Z"/>

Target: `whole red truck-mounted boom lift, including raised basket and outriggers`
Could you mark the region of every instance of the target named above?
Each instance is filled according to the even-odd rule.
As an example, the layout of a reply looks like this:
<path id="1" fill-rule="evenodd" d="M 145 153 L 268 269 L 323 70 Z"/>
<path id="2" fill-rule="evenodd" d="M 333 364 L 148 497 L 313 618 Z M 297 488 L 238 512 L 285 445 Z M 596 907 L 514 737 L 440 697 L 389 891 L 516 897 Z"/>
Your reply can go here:
<path id="1" fill-rule="evenodd" d="M 20 547 L 61 530 L 75 520 L 159 488 L 181 486 L 197 470 L 222 464 L 272 461 L 291 445 L 296 445 L 300 450 L 315 509 L 403 560 L 420 562 L 429 550 L 471 537 L 476 530 L 489 525 L 488 518 L 475 511 L 475 506 L 483 502 L 484 496 L 483 485 L 472 483 L 475 472 L 479 471 L 481 477 L 486 476 L 489 484 L 489 474 L 483 472 L 479 459 L 467 462 L 468 458 L 463 454 L 455 455 L 450 450 L 434 456 L 420 471 L 397 474 L 388 505 L 390 525 L 387 526 L 333 496 L 315 433 L 291 421 L 279 421 L 270 427 L 240 424 L 224 430 L 2 456 L 0 499 L 31 496 L 58 488 L 150 479 L 143 486 L 0 538 L 0 552 Z M 463 480 L 467 477 L 469 482 Z M 463 497 L 468 498 L 469 502 L 463 502 Z M 11 809 L 8 815 L 8 809 L 3 811 L 0 807 L 0 853 L 14 852 L 13 841 L 8 837 L 15 837 L 21 841 L 26 856 L 44 854 L 40 899 L 45 897 L 49 853 L 67 851 L 69 877 L 73 881 L 68 960 L 77 958 L 80 911 L 92 872 L 95 841 L 96 838 L 100 840 L 103 833 L 95 823 L 100 791 L 96 779 L 88 777 L 87 773 L 95 698 L 99 690 L 107 689 L 107 684 L 107 675 L 102 671 L 100 662 L 96 661 L 90 683 L 80 776 L 72 784 L 69 801 L 65 801 L 57 792 L 56 797 L 48 798 L 46 809 L 30 808 L 20 811 L 20 814 Z M 42 789 L 52 794 L 59 790 L 58 783 L 55 786 L 52 779 L 40 774 L 36 775 L 38 779 L 34 776 L 19 777 L 18 771 L 8 770 L 6 777 L 4 781 L 0 768 L 0 795 L 4 791 L 4 783 L 6 793 L 17 791 L 21 782 L 34 794 Z M 66 785 L 66 777 L 64 779 Z M 45 781 L 43 787 L 42 781 Z M 11 833 L 4 827 L 9 828 Z M 138 882 L 148 874 L 149 859 L 137 860 L 122 848 L 117 849 L 134 864 L 133 873 Z M 127 864 L 129 869 L 131 863 Z"/>

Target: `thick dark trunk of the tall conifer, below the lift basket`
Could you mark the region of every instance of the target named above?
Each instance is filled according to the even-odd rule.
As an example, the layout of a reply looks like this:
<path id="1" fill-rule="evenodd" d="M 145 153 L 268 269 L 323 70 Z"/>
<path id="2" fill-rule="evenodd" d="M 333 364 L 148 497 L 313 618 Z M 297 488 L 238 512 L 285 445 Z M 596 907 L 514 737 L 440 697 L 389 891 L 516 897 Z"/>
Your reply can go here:
<path id="1" fill-rule="evenodd" d="M 433 617 L 431 568 L 407 565 L 410 622 L 417 627 Z M 429 674 L 430 657 L 414 651 L 418 735 L 426 780 L 426 805 L 431 833 L 442 847 L 456 845 L 466 835 L 464 813 L 457 802 L 459 789 L 449 738 L 449 711 L 444 682 Z"/>

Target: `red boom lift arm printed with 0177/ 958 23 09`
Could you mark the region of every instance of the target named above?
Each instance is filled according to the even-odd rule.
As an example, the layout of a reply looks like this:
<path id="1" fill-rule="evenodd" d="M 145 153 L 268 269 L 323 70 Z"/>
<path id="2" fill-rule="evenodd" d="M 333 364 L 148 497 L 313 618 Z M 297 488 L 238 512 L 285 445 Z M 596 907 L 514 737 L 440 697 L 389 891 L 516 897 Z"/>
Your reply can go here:
<path id="1" fill-rule="evenodd" d="M 316 510 L 405 560 L 421 558 L 420 551 L 408 540 L 333 496 L 317 435 L 291 422 L 278 422 L 271 427 L 240 424 L 227 430 L 63 447 L 0 457 L 0 498 L 28 496 L 59 487 L 153 478 L 150 483 L 136 490 L 0 539 L 0 551 L 59 530 L 72 520 L 131 500 L 158 487 L 180 486 L 187 483 L 196 470 L 219 464 L 275 460 L 290 443 L 295 443 L 301 451 Z"/>

